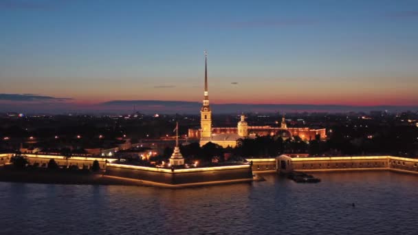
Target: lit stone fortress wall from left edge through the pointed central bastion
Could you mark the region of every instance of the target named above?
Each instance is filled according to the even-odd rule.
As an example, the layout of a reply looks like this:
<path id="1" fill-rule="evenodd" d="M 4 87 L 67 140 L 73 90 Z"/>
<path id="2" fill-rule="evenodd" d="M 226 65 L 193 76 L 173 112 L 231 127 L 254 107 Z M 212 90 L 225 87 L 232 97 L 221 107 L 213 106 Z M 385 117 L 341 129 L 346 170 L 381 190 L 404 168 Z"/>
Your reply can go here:
<path id="1" fill-rule="evenodd" d="M 10 164 L 12 154 L 1 154 L 0 165 Z M 47 166 L 50 159 L 54 159 L 58 165 L 65 166 L 66 159 L 58 155 L 32 155 L 26 154 L 30 164 L 39 163 Z M 68 165 L 76 165 L 79 168 L 92 166 L 93 161 L 98 160 L 100 168 L 106 169 L 105 177 L 137 181 L 139 185 L 162 186 L 166 188 L 182 188 L 186 186 L 211 185 L 218 183 L 235 183 L 253 181 L 250 164 L 235 166 L 216 166 L 206 168 L 166 169 L 146 166 L 132 166 L 113 164 L 115 159 L 101 157 L 71 157 Z"/>

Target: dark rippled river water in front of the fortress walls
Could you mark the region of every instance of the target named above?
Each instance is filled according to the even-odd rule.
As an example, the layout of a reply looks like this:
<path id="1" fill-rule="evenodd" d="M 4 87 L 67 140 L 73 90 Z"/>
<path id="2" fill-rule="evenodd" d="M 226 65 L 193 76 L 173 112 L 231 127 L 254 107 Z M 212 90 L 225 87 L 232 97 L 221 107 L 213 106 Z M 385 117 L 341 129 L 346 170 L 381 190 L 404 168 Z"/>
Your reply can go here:
<path id="1" fill-rule="evenodd" d="M 315 176 L 184 190 L 0 182 L 0 233 L 417 234 L 418 176 Z"/>

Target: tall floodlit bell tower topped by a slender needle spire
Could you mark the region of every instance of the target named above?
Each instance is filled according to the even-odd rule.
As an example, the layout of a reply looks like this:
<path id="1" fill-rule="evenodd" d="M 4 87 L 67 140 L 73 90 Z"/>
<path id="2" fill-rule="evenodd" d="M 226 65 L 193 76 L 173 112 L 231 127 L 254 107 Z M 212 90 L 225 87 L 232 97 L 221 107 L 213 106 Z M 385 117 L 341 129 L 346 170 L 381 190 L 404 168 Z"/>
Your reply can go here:
<path id="1" fill-rule="evenodd" d="M 209 107 L 208 95 L 208 54 L 205 51 L 205 91 L 203 105 L 200 110 L 201 137 L 212 136 L 212 111 Z"/>

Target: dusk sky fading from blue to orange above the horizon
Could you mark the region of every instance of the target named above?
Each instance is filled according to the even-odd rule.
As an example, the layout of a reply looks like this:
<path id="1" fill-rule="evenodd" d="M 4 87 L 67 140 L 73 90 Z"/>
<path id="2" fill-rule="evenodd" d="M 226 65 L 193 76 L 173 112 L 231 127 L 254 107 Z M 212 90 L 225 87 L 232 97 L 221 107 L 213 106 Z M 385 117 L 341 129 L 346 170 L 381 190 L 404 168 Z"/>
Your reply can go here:
<path id="1" fill-rule="evenodd" d="M 417 107 L 417 25 L 402 0 L 0 0 L 0 111 L 201 102 L 205 49 L 211 104 Z"/>

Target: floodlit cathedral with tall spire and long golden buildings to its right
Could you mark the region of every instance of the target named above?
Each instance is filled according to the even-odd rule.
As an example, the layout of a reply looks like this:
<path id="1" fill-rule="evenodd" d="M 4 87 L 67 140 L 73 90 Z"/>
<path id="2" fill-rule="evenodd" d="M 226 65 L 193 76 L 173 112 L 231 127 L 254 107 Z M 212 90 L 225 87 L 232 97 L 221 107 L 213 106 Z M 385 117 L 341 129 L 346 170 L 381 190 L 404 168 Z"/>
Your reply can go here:
<path id="1" fill-rule="evenodd" d="M 241 120 L 236 127 L 212 127 L 212 111 L 209 105 L 208 94 L 208 56 L 205 53 L 205 91 L 203 105 L 200 110 L 200 128 L 190 128 L 188 130 L 188 137 L 190 139 L 199 139 L 200 146 L 212 142 L 214 144 L 219 144 L 223 148 L 228 146 L 234 148 L 238 139 L 254 138 L 262 135 L 278 135 L 283 139 L 298 136 L 305 141 L 315 139 L 317 135 L 319 135 L 320 139 L 325 139 L 327 137 L 325 128 L 288 128 L 285 117 L 282 118 L 281 125 L 277 127 L 248 126 L 248 123 L 245 122 L 244 115 L 241 115 Z"/>

